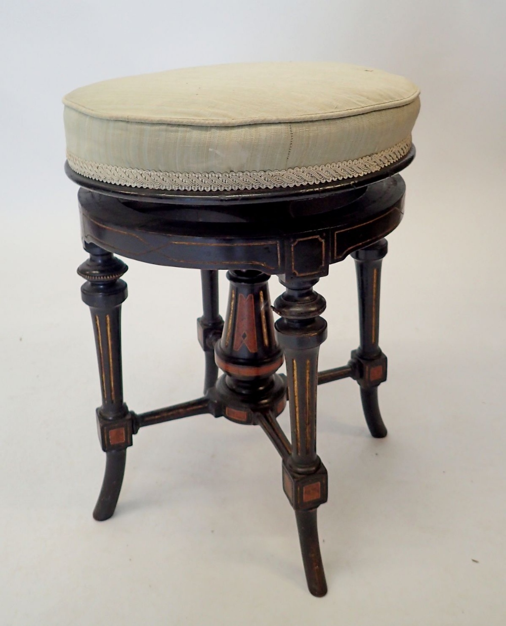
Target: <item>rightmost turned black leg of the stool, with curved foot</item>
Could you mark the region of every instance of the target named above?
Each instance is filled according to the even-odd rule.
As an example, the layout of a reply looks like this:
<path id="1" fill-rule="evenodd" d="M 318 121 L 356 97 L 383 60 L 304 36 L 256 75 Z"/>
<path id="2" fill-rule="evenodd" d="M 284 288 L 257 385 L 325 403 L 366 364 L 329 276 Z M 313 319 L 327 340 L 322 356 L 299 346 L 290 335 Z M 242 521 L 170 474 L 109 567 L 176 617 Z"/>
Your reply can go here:
<path id="1" fill-rule="evenodd" d="M 378 406 L 378 385 L 387 379 L 387 357 L 378 345 L 380 327 L 380 279 L 386 239 L 352 253 L 357 269 L 360 347 L 352 352 L 354 376 L 367 426 L 373 437 L 385 437 L 387 428 Z"/>

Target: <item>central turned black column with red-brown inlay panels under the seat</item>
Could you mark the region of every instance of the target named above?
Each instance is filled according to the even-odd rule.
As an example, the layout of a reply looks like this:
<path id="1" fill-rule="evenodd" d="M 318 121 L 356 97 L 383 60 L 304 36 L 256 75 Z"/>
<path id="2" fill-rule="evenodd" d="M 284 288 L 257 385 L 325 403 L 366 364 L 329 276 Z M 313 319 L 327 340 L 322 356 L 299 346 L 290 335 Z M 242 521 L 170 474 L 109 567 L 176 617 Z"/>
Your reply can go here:
<path id="1" fill-rule="evenodd" d="M 231 270 L 223 334 L 215 346 L 216 364 L 225 372 L 216 396 L 226 418 L 257 423 L 255 414 L 280 414 L 285 382 L 275 374 L 283 363 L 276 341 L 267 281 L 258 270 Z"/>

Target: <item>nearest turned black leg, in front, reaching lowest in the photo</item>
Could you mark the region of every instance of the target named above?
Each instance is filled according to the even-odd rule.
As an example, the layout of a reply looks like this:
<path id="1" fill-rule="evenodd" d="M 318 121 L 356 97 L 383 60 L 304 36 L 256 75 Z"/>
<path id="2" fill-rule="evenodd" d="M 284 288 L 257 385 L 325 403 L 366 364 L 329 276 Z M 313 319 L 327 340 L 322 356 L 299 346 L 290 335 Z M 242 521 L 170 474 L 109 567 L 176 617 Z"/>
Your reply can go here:
<path id="1" fill-rule="evenodd" d="M 302 560 L 310 592 L 326 593 L 316 509 L 327 499 L 327 473 L 316 454 L 318 351 L 326 339 L 320 317 L 325 300 L 313 291 L 316 280 L 290 279 L 276 299 L 278 341 L 285 352 L 290 399 L 291 454 L 283 460 L 283 489 L 295 510 Z"/>

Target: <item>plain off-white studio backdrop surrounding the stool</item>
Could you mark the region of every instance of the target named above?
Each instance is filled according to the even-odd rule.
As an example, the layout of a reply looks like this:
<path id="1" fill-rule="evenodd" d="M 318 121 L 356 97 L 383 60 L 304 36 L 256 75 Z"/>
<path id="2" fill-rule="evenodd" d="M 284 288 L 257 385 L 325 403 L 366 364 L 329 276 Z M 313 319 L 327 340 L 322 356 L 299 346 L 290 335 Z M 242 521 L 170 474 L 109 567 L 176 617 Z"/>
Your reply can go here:
<path id="1" fill-rule="evenodd" d="M 21 0 L 0 19 L 1 625 L 503 625 L 505 5 Z M 91 518 L 99 381 L 61 96 L 264 60 L 365 64 L 422 88 L 405 219 L 383 264 L 388 438 L 368 435 L 355 382 L 320 388 L 323 599 L 306 590 L 260 429 L 210 416 L 143 429 L 116 516 Z M 197 397 L 199 273 L 128 265 L 126 401 L 145 411 Z M 358 343 L 352 261 L 317 289 L 329 322 L 320 366 L 345 364 Z"/>

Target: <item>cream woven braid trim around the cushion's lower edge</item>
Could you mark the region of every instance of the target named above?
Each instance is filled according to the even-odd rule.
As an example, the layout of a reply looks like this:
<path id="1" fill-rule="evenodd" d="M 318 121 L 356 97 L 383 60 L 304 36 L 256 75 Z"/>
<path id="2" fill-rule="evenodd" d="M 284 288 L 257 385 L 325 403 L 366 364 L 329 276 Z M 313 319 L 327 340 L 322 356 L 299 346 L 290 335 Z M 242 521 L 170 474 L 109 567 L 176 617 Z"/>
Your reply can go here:
<path id="1" fill-rule="evenodd" d="M 343 180 L 343 178 L 357 178 L 378 172 L 387 165 L 395 163 L 407 155 L 410 148 L 411 136 L 396 143 L 392 148 L 358 159 L 326 163 L 326 165 L 295 167 L 288 170 L 266 170 L 265 172 L 262 170 L 260 172 L 156 172 L 156 170 L 138 170 L 85 161 L 69 152 L 67 159 L 74 172 L 103 183 L 170 191 L 223 192 L 300 187 L 300 185 L 330 183 Z"/>

